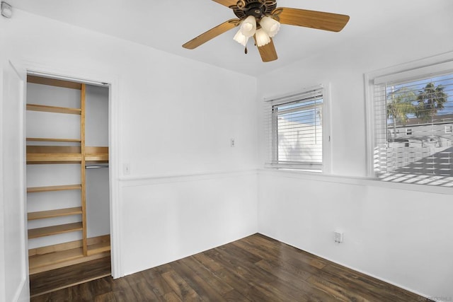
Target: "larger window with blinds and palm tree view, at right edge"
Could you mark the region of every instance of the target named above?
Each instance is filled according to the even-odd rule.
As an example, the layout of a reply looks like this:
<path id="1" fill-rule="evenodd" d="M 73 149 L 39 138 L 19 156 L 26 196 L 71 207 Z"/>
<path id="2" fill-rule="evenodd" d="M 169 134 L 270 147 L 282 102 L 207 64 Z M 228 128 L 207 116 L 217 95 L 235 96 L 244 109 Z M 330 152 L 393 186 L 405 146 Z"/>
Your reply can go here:
<path id="1" fill-rule="evenodd" d="M 453 61 L 368 81 L 374 176 L 453 187 Z"/>

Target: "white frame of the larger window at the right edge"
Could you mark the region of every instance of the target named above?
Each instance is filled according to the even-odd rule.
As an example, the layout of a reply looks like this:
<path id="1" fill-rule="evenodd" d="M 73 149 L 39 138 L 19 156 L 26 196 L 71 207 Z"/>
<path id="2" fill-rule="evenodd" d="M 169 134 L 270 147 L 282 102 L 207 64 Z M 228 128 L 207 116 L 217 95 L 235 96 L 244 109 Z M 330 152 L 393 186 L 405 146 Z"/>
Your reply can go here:
<path id="1" fill-rule="evenodd" d="M 434 57 L 420 59 L 415 62 L 390 66 L 386 69 L 364 74 L 365 81 L 365 110 L 366 110 L 366 141 L 367 141 L 367 178 L 381 181 L 374 171 L 375 136 L 374 86 L 386 81 L 416 81 L 423 77 L 437 74 L 453 74 L 453 52 Z M 403 185 L 400 182 L 394 182 Z M 420 185 L 420 184 L 417 184 Z M 432 187 L 431 185 L 429 185 Z"/>

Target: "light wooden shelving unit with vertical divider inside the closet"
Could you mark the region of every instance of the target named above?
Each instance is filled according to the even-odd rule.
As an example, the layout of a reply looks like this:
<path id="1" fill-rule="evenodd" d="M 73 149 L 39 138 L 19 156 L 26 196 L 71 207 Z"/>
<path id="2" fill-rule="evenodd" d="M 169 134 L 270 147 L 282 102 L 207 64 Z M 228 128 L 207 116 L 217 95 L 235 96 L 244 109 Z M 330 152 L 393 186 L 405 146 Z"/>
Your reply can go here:
<path id="1" fill-rule="evenodd" d="M 77 163 L 80 165 L 80 183 L 68 185 L 50 185 L 43 187 L 28 187 L 28 194 L 40 194 L 42 192 L 57 192 L 64 190 L 80 190 L 81 200 L 79 207 L 65 209 L 49 209 L 47 211 L 34 211 L 28 213 L 28 221 L 38 219 L 52 219 L 62 216 L 80 216 L 81 221 L 64 223 L 56 226 L 28 229 L 28 238 L 40 238 L 54 236 L 62 233 L 81 232 L 81 240 L 69 243 L 60 243 L 43 248 L 29 250 L 30 274 L 44 272 L 57 267 L 73 265 L 79 262 L 90 261 L 110 255 L 110 236 L 99 238 L 87 238 L 86 233 L 86 163 L 108 163 L 108 147 L 85 146 L 85 93 L 84 83 L 46 79 L 39 76 L 28 76 L 29 83 L 38 83 L 47 86 L 58 86 L 81 91 L 80 108 L 66 108 L 58 106 L 27 104 L 30 111 L 50 112 L 54 114 L 80 115 L 80 138 L 52 138 L 52 137 L 28 137 L 28 142 L 45 142 L 46 146 L 27 146 L 27 164 L 55 164 Z M 48 146 L 57 143 L 58 146 Z M 71 146 L 61 146 L 62 144 Z"/>

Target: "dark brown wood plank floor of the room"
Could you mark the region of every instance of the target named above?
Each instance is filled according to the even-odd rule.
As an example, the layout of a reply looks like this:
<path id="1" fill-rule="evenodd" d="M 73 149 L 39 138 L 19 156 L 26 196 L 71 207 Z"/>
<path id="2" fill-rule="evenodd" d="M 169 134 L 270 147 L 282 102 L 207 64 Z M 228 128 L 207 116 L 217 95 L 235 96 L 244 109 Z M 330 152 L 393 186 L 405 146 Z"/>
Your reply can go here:
<path id="1" fill-rule="evenodd" d="M 32 301 L 429 301 L 255 234 L 120 279 L 105 277 Z"/>

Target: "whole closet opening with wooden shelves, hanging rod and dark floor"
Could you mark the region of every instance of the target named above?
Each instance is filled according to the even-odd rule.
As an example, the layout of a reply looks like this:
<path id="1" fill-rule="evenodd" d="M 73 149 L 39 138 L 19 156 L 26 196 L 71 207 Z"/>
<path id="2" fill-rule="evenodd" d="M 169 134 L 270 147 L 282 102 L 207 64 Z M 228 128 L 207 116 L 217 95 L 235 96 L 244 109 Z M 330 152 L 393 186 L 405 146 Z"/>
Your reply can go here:
<path id="1" fill-rule="evenodd" d="M 105 83 L 27 76 L 30 296 L 111 275 L 109 93 Z"/>

